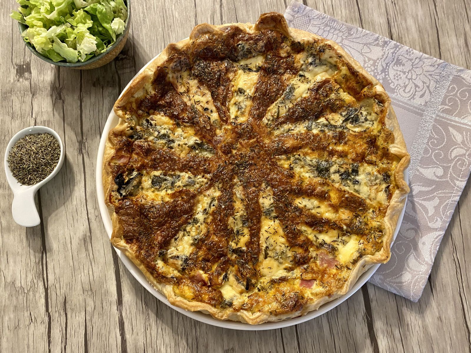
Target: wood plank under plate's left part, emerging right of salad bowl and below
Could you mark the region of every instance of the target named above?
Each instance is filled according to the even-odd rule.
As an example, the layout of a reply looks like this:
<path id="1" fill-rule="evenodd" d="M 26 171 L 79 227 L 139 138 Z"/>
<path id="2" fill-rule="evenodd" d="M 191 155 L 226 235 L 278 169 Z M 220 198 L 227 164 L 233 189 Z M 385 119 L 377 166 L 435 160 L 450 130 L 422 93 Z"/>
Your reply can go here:
<path id="1" fill-rule="evenodd" d="M 181 12 L 176 12 L 177 6 Z M 134 74 L 162 51 L 166 43 L 187 37 L 194 26 L 193 4 L 146 2 L 144 7 L 144 11 L 134 12 L 130 37 L 132 40 L 126 44 L 119 61 L 114 63 L 116 73 L 121 73 L 123 67 L 127 68 L 121 76 L 115 98 Z M 148 13 L 156 14 L 153 26 L 162 29 L 149 33 L 150 38 L 147 37 L 148 33 L 138 30 L 151 25 L 147 23 L 150 18 Z M 180 23 L 176 21 L 177 13 L 181 13 Z M 137 57 L 136 53 L 141 54 Z M 113 102 L 114 99 L 110 102 L 109 109 Z M 122 351 L 143 351 L 152 346 L 156 352 L 191 352 L 192 346 L 198 347 L 195 323 L 160 303 L 131 276 L 115 254 L 113 258 L 116 283 L 121 283 L 120 304 L 122 317 L 125 318 L 121 331 Z M 179 339 L 180 336 L 186 336 L 187 340 Z"/>

